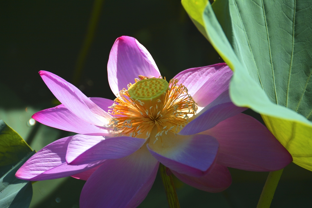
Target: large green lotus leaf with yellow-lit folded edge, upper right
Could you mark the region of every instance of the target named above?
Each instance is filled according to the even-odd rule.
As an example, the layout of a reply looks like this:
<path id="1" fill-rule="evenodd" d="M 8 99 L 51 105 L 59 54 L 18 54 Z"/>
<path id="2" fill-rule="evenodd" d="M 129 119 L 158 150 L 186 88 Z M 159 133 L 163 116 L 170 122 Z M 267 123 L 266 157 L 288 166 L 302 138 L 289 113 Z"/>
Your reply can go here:
<path id="1" fill-rule="evenodd" d="M 310 2 L 202 2 L 204 9 L 194 0 L 182 4 L 193 22 L 203 22 L 207 39 L 234 71 L 232 101 L 260 113 L 294 162 L 312 171 Z"/>

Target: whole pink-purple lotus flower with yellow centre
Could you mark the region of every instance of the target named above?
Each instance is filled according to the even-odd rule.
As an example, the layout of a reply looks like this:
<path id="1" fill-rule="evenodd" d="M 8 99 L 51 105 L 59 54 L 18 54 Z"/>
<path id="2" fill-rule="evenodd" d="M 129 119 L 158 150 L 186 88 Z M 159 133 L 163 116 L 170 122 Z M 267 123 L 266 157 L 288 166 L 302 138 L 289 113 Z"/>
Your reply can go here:
<path id="1" fill-rule="evenodd" d="M 265 126 L 231 102 L 232 71 L 224 63 L 184 70 L 168 82 L 146 48 L 122 36 L 107 69 L 115 102 L 88 98 L 59 76 L 39 72 L 62 104 L 32 118 L 78 134 L 41 149 L 17 178 L 72 176 L 86 180 L 80 207 L 136 207 L 159 162 L 181 181 L 219 192 L 232 182 L 227 167 L 275 171 L 292 161 Z"/>

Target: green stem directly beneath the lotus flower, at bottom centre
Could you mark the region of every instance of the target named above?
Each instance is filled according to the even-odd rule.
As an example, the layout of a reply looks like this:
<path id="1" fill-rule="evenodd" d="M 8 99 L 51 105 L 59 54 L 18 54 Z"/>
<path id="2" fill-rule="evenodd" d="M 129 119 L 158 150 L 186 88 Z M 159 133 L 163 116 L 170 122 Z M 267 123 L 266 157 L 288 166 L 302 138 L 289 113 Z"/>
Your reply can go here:
<path id="1" fill-rule="evenodd" d="M 169 208 L 180 208 L 172 176 L 167 175 L 166 167 L 161 163 L 159 163 L 159 173 L 161 180 L 163 181 L 163 187 L 165 188 Z"/>

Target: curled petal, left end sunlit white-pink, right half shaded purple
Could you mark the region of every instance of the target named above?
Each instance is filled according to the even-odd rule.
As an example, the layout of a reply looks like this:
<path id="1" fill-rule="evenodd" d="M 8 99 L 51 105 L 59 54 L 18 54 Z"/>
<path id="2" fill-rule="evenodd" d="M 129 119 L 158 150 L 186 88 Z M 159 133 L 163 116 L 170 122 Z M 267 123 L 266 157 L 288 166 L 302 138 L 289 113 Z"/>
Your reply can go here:
<path id="1" fill-rule="evenodd" d="M 146 142 L 134 137 L 104 137 L 77 134 L 68 144 L 66 161 L 81 165 L 98 160 L 118 159 L 137 151 Z"/>

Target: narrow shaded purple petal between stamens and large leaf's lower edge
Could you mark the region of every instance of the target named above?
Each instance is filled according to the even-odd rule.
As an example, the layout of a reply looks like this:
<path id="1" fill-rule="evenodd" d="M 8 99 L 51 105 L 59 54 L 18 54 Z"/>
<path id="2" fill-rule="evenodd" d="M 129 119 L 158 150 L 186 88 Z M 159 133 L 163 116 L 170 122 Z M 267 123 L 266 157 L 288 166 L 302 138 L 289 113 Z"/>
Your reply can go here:
<path id="1" fill-rule="evenodd" d="M 246 108 L 234 105 L 228 95 L 228 90 L 207 105 L 202 111 L 193 116 L 180 132 L 180 135 L 192 135 L 210 129 L 221 121 L 230 118 L 246 110 Z M 194 119 L 193 119 L 194 118 Z"/>

